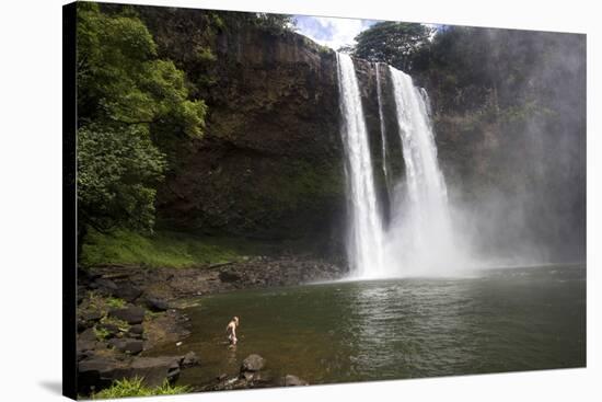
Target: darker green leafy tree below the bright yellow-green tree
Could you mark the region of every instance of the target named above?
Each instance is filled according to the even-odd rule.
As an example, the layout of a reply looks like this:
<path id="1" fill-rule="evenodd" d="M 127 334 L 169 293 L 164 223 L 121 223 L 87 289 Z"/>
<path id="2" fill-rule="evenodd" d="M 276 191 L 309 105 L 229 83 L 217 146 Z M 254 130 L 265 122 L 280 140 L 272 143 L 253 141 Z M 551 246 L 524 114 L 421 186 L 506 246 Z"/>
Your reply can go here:
<path id="1" fill-rule="evenodd" d="M 155 185 L 165 157 L 139 126 L 78 130 L 78 214 L 81 223 L 108 232 L 154 225 Z"/>

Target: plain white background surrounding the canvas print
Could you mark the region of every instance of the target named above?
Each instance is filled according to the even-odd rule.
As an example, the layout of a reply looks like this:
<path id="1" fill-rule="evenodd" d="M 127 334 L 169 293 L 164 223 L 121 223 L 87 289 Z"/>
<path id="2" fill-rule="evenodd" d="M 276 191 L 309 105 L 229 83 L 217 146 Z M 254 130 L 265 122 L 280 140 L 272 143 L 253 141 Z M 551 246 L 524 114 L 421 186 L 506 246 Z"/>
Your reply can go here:
<path id="1" fill-rule="evenodd" d="M 588 368 L 190 394 L 162 401 L 593 401 L 600 349 L 600 13 L 595 1 L 163 0 L 134 3 L 588 34 Z M 0 399 L 60 399 L 61 4 L 0 12 Z M 598 20 L 597 20 L 598 18 Z M 595 159 L 597 157 L 598 160 Z M 202 358 L 202 356 L 201 356 Z M 148 400 L 148 399 L 144 399 Z"/>

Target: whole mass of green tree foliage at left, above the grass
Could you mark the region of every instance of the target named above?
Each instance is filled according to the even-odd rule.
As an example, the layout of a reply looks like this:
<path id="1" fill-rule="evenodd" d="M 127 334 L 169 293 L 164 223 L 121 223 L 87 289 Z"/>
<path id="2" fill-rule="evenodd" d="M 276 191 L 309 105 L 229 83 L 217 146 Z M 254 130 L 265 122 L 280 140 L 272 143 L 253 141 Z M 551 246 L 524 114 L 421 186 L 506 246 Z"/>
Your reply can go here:
<path id="1" fill-rule="evenodd" d="M 159 143 L 200 137 L 207 107 L 184 72 L 157 57 L 132 13 L 78 3 L 78 240 L 88 227 L 149 231 L 166 157 Z M 81 249 L 80 249 L 81 250 Z"/>

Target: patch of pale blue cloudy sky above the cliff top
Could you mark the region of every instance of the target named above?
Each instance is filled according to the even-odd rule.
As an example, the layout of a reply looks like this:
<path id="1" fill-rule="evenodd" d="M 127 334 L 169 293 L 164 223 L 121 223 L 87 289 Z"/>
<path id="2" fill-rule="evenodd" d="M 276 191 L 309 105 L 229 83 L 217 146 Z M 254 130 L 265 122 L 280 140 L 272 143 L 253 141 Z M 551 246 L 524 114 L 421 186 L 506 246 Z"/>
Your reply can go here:
<path id="1" fill-rule="evenodd" d="M 338 49 L 352 45 L 354 38 L 378 21 L 359 19 L 337 19 L 324 16 L 294 15 L 297 32 L 314 42 Z"/>

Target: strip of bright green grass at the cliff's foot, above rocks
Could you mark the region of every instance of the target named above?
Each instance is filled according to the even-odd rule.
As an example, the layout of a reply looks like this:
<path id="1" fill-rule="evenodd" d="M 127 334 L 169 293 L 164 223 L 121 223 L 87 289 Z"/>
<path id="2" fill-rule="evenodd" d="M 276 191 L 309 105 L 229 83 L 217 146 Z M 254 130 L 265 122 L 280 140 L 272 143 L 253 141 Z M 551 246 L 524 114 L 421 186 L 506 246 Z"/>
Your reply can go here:
<path id="1" fill-rule="evenodd" d="M 111 234 L 91 231 L 82 249 L 81 264 L 188 267 L 239 261 L 256 245 L 244 240 L 201 238 L 187 233 L 157 232 L 142 236 L 127 230 Z"/>

